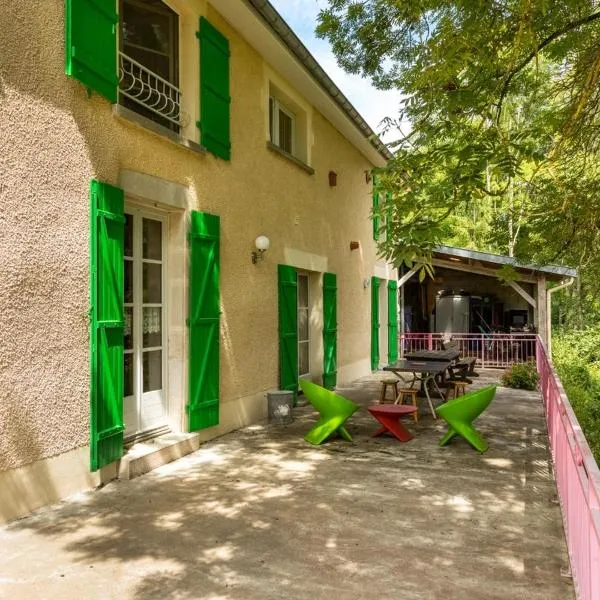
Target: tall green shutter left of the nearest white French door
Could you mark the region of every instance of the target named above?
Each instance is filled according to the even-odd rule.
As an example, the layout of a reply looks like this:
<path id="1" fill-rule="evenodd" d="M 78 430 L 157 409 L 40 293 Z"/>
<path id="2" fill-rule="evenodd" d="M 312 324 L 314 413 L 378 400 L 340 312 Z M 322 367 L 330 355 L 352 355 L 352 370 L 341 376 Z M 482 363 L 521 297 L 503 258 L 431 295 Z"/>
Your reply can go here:
<path id="1" fill-rule="evenodd" d="M 123 455 L 123 190 L 92 181 L 90 232 L 91 470 Z"/>

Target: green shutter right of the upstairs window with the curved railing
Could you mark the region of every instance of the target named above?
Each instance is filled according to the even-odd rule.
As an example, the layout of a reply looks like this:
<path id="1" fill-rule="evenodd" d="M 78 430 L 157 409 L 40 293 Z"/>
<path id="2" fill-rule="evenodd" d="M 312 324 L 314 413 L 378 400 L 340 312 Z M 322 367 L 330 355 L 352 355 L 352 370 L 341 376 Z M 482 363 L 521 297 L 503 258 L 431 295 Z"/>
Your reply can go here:
<path id="1" fill-rule="evenodd" d="M 200 18 L 200 143 L 215 156 L 231 158 L 229 40 Z"/>

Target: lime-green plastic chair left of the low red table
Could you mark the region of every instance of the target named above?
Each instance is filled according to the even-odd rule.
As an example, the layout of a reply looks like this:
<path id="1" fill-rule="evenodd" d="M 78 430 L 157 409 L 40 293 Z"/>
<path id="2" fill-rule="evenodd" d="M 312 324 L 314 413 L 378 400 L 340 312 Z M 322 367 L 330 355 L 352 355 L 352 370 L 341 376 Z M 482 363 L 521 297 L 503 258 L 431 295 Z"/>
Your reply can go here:
<path id="1" fill-rule="evenodd" d="M 318 446 L 337 431 L 342 438 L 351 442 L 352 437 L 344 427 L 344 423 L 360 406 L 311 381 L 301 379 L 300 387 L 306 399 L 321 415 L 315 426 L 304 436 L 304 439 Z"/>

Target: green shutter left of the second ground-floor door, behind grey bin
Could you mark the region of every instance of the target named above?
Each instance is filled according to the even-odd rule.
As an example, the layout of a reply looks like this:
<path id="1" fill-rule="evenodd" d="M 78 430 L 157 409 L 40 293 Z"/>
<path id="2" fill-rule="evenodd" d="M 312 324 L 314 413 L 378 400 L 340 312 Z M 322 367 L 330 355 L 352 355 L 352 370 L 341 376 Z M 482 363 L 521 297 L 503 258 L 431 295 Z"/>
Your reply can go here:
<path id="1" fill-rule="evenodd" d="M 298 392 L 298 277 L 288 265 L 277 268 L 279 286 L 279 387 Z"/>

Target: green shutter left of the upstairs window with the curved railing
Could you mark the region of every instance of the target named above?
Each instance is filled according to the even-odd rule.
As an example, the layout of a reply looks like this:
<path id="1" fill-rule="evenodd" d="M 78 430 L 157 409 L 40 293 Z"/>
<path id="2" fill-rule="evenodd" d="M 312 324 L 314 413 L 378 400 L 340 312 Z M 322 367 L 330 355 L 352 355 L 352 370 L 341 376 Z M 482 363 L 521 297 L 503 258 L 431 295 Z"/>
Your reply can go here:
<path id="1" fill-rule="evenodd" d="M 117 23 L 115 0 L 66 0 L 65 72 L 117 101 Z"/>

